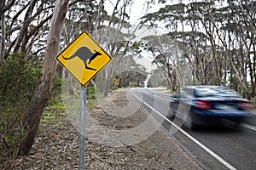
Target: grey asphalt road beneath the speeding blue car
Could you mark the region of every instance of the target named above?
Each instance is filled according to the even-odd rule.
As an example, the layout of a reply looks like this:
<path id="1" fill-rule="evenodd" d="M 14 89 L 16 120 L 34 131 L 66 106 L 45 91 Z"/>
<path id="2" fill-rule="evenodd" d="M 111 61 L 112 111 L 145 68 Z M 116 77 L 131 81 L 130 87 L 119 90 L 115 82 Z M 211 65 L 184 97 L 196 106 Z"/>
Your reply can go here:
<path id="1" fill-rule="evenodd" d="M 162 125 L 176 143 L 204 169 L 256 169 L 256 114 L 240 127 L 225 123 L 218 127 L 179 128 L 165 117 L 170 94 L 148 88 L 131 89 L 131 94 Z"/>

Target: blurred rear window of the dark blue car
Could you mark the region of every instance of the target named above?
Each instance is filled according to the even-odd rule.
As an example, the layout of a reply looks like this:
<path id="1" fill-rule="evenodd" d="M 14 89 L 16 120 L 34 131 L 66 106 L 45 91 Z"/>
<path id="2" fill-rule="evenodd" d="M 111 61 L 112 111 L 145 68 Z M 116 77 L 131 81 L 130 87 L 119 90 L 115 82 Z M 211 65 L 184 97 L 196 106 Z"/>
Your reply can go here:
<path id="1" fill-rule="evenodd" d="M 241 96 L 234 90 L 229 88 L 197 88 L 195 90 L 195 97 L 212 97 L 222 96 L 230 98 L 241 98 Z"/>

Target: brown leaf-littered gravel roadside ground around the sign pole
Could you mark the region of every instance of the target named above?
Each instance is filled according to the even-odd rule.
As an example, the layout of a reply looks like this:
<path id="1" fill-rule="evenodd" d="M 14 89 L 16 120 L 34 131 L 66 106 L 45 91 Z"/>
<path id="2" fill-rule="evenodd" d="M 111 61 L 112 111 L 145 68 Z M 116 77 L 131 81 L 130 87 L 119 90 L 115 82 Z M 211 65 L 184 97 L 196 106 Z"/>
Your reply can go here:
<path id="1" fill-rule="evenodd" d="M 114 91 L 103 99 L 104 110 L 98 105 L 87 111 L 88 116 L 95 119 L 98 125 L 116 131 L 125 132 L 127 129 L 138 127 L 148 118 L 148 113 L 143 108 L 139 108 L 136 113 L 125 118 L 108 114 L 108 111 L 113 109 L 111 108 L 113 103 L 114 107 L 128 105 L 128 92 L 128 89 Z M 109 107 L 108 111 L 106 107 Z M 30 155 L 19 156 L 12 162 L 10 169 L 77 169 L 79 167 L 79 132 L 67 116 L 58 120 L 58 122 L 42 123 Z M 155 125 L 152 124 L 152 127 Z M 99 132 L 99 129 L 90 123 L 86 126 L 86 134 L 88 136 L 85 138 L 85 169 L 201 169 L 160 127 L 152 135 L 134 144 L 131 144 L 133 141 L 131 136 L 128 136 L 130 137 L 128 140 L 120 139 L 119 135 L 108 138 L 108 133 Z M 110 139 L 111 142 L 102 143 L 104 138 Z"/>

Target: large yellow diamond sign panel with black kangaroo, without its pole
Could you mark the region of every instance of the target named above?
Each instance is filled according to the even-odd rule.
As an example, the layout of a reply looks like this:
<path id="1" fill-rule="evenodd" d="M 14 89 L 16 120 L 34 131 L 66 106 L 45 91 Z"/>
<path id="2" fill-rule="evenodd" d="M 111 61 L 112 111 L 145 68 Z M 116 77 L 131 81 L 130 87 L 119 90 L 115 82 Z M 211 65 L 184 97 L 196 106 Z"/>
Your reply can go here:
<path id="1" fill-rule="evenodd" d="M 86 31 L 83 31 L 56 59 L 84 86 L 112 57 Z"/>

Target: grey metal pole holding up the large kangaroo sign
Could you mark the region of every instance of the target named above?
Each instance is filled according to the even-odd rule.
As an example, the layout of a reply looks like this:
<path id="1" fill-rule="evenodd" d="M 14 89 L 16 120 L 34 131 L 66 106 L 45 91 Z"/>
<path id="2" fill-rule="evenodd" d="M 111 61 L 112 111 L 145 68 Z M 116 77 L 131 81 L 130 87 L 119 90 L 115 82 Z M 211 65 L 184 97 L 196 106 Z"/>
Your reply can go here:
<path id="1" fill-rule="evenodd" d="M 82 86 L 80 92 L 79 170 L 84 170 L 86 91 L 87 86 Z"/>

